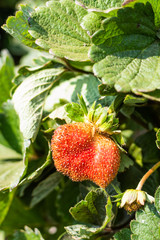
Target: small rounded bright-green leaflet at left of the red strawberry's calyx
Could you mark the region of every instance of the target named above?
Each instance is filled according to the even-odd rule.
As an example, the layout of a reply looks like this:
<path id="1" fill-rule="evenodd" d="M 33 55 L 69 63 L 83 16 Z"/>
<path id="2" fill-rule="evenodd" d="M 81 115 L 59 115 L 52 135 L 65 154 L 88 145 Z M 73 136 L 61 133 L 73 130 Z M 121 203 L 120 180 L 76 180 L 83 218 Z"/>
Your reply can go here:
<path id="1" fill-rule="evenodd" d="M 67 116 L 75 122 L 84 122 L 84 112 L 78 103 L 68 103 L 65 106 Z"/>

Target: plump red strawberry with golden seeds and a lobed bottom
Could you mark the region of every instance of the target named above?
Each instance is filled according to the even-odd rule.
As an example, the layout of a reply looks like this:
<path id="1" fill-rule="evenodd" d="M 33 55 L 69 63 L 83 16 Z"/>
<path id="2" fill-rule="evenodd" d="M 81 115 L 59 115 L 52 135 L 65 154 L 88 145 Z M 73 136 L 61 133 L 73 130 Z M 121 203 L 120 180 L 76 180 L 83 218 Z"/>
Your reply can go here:
<path id="1" fill-rule="evenodd" d="M 52 136 L 51 149 L 57 170 L 73 181 L 91 180 L 105 188 L 118 173 L 117 145 L 91 123 L 58 127 Z"/>

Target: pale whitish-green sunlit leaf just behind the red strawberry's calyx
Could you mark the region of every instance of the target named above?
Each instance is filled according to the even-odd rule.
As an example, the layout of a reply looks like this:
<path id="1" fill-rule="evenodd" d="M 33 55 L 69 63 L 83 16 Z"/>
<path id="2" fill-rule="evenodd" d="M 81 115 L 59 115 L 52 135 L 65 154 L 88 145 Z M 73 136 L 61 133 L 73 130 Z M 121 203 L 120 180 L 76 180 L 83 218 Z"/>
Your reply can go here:
<path id="1" fill-rule="evenodd" d="M 60 99 L 79 102 L 78 94 L 83 96 L 86 105 L 89 106 L 101 97 L 98 92 L 99 84 L 100 81 L 91 74 L 75 76 L 73 73 L 65 73 L 58 84 L 53 86 L 46 98 L 44 109 L 51 111 Z"/>

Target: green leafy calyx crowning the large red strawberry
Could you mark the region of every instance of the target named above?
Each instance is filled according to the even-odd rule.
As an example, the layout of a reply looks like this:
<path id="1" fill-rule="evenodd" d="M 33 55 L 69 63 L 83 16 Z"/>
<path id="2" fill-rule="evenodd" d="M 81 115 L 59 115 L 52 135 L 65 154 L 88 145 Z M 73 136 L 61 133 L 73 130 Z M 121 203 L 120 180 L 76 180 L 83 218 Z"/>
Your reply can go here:
<path id="1" fill-rule="evenodd" d="M 73 122 L 85 122 L 93 125 L 94 131 L 110 136 L 121 148 L 124 145 L 121 131 L 117 130 L 119 119 L 116 118 L 116 113 L 110 107 L 102 107 L 101 104 L 94 102 L 90 108 L 87 108 L 82 96 L 79 96 L 78 103 L 68 103 L 65 106 L 67 116 Z"/>

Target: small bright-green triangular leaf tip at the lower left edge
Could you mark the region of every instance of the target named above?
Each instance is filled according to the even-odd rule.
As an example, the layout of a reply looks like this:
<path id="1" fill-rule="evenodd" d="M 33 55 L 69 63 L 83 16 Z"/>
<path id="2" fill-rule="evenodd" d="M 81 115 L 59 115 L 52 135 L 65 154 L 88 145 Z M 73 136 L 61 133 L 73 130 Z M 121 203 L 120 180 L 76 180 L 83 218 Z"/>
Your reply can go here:
<path id="1" fill-rule="evenodd" d="M 15 191 L 0 192 L 0 225 L 4 221 L 10 205 L 12 203 Z M 1 238 L 0 238 L 1 239 Z"/>

